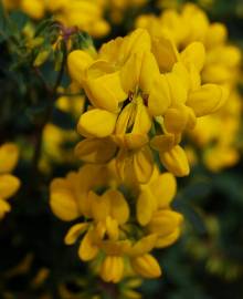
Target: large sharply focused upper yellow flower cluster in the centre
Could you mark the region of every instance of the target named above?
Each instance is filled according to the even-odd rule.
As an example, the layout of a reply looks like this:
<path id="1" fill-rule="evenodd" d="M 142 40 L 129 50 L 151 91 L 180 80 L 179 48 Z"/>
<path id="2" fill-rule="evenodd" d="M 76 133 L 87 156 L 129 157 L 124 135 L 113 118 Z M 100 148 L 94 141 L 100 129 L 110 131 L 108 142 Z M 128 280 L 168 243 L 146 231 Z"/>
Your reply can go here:
<path id="1" fill-rule="evenodd" d="M 179 145 L 182 133 L 228 97 L 225 87 L 201 83 L 204 59 L 202 43 L 179 52 L 168 34 L 151 39 L 145 29 L 103 44 L 93 55 L 73 51 L 70 75 L 91 103 L 77 124 L 85 137 L 76 146 L 77 156 L 88 163 L 115 157 L 122 178 L 147 183 L 155 151 L 169 172 L 188 175 L 188 159 Z"/>

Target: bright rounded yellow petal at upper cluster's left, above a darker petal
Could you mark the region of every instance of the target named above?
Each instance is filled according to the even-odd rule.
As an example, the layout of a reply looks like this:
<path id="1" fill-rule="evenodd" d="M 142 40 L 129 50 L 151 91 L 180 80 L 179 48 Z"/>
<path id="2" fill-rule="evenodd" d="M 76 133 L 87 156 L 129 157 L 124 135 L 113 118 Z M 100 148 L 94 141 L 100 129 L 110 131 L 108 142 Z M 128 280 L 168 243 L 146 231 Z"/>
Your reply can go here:
<path id="1" fill-rule="evenodd" d="M 117 114 L 105 110 L 87 111 L 78 121 L 77 132 L 85 137 L 107 137 L 115 130 L 116 118 Z"/>

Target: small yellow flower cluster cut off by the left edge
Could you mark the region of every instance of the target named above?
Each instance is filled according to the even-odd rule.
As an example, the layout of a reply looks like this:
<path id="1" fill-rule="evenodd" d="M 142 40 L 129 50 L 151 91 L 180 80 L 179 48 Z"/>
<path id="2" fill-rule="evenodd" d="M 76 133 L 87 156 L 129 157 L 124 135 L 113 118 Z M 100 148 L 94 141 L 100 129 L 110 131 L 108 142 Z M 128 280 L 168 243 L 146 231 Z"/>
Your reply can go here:
<path id="1" fill-rule="evenodd" d="M 17 165 L 19 150 L 15 144 L 4 143 L 0 146 L 0 219 L 11 207 L 7 199 L 13 196 L 20 187 L 18 177 L 10 174 Z"/>

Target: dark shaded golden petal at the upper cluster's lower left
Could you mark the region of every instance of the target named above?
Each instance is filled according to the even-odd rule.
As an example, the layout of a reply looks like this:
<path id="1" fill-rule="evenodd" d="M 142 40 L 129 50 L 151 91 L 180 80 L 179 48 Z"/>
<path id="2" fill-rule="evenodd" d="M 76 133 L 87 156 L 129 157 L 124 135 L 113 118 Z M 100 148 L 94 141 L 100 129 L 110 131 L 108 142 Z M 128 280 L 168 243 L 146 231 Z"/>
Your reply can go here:
<path id="1" fill-rule="evenodd" d="M 110 161 L 117 146 L 112 138 L 85 138 L 75 146 L 75 155 L 87 163 L 107 163 Z"/>

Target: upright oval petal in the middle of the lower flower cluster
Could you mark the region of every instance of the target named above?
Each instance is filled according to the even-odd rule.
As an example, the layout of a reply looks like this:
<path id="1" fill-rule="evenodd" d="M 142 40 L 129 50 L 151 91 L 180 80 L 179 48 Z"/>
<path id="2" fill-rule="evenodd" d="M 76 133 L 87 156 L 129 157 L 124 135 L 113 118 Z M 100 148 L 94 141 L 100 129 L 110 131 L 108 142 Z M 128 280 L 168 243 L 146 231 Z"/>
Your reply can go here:
<path id="1" fill-rule="evenodd" d="M 110 216 L 115 218 L 118 224 L 125 224 L 129 218 L 129 206 L 124 195 L 115 189 L 109 189 L 105 193 L 105 196 L 110 202 Z"/>

